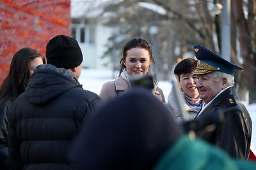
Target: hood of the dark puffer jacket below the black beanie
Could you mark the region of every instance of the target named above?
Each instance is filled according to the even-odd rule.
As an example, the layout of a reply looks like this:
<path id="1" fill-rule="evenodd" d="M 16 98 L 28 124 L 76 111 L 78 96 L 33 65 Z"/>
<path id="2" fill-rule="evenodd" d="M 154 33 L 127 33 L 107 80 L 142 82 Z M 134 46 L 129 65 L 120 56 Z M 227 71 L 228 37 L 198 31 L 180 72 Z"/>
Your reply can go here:
<path id="1" fill-rule="evenodd" d="M 81 87 L 74 74 L 67 69 L 43 64 L 37 66 L 31 75 L 25 96 L 30 103 L 44 105 L 73 87 Z"/>

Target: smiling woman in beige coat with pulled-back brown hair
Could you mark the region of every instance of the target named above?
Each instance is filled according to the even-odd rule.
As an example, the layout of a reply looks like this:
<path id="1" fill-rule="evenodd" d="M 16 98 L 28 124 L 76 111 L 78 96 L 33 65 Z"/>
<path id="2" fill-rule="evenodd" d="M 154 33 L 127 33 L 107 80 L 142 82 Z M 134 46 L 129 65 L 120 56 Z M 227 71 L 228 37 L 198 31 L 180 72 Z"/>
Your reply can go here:
<path id="1" fill-rule="evenodd" d="M 123 57 L 120 60 L 119 76 L 115 81 L 102 85 L 99 96 L 105 103 L 131 89 L 132 78 L 150 75 L 149 68 L 154 63 L 152 46 L 143 38 L 132 38 L 124 45 Z M 163 91 L 154 80 L 154 94 L 165 103 Z"/>

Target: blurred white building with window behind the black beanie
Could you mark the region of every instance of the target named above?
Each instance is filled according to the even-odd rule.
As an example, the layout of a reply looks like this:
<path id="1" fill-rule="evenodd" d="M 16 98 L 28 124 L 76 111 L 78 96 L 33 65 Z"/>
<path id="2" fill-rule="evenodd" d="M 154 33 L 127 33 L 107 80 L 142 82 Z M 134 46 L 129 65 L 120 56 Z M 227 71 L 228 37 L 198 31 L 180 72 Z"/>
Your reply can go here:
<path id="1" fill-rule="evenodd" d="M 93 3 L 93 4 L 92 4 Z M 75 38 L 83 52 L 82 66 L 90 69 L 106 68 L 104 64 L 109 58 L 102 56 L 106 52 L 106 44 L 111 36 L 111 30 L 104 27 L 102 22 L 104 17 L 100 15 L 100 8 L 97 6 L 97 11 L 92 5 L 95 1 L 71 1 L 71 17 L 72 17 L 72 37 Z"/>

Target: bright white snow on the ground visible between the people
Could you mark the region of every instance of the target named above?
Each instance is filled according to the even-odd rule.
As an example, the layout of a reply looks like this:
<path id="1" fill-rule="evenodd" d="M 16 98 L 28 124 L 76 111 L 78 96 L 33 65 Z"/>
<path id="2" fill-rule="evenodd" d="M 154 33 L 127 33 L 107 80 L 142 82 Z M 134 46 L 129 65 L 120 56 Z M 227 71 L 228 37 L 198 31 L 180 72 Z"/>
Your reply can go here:
<path id="1" fill-rule="evenodd" d="M 106 69 L 83 69 L 79 82 L 83 85 L 85 90 L 90 90 L 96 94 L 100 93 L 100 89 L 104 83 L 107 81 L 115 80 L 116 73 L 111 70 Z M 168 94 L 172 88 L 172 83 L 170 81 L 158 81 L 158 86 L 163 90 L 164 97 L 167 99 Z M 256 141 L 256 103 L 248 105 L 248 102 L 244 102 L 247 110 L 250 113 L 253 123 L 253 139 Z M 253 147 L 253 142 L 251 149 L 253 153 L 256 153 L 256 145 Z"/>

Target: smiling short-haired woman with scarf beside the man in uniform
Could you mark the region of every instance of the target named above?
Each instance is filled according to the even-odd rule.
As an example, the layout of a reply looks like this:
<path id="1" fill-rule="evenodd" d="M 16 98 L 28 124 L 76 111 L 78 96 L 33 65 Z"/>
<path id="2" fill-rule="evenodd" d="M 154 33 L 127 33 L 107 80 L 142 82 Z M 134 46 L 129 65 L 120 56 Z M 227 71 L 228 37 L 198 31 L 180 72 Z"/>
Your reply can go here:
<path id="1" fill-rule="evenodd" d="M 197 76 L 193 74 L 196 70 L 197 60 L 188 58 L 181 60 L 174 69 L 174 74 L 177 76 L 177 83 L 184 95 L 185 102 L 184 110 L 188 111 L 191 119 L 194 119 L 202 108 L 203 101 L 199 97 L 198 90 L 196 89 Z M 177 106 L 177 97 L 175 96 L 172 88 L 166 106 L 171 109 L 178 120 L 182 120 L 182 116 Z"/>

